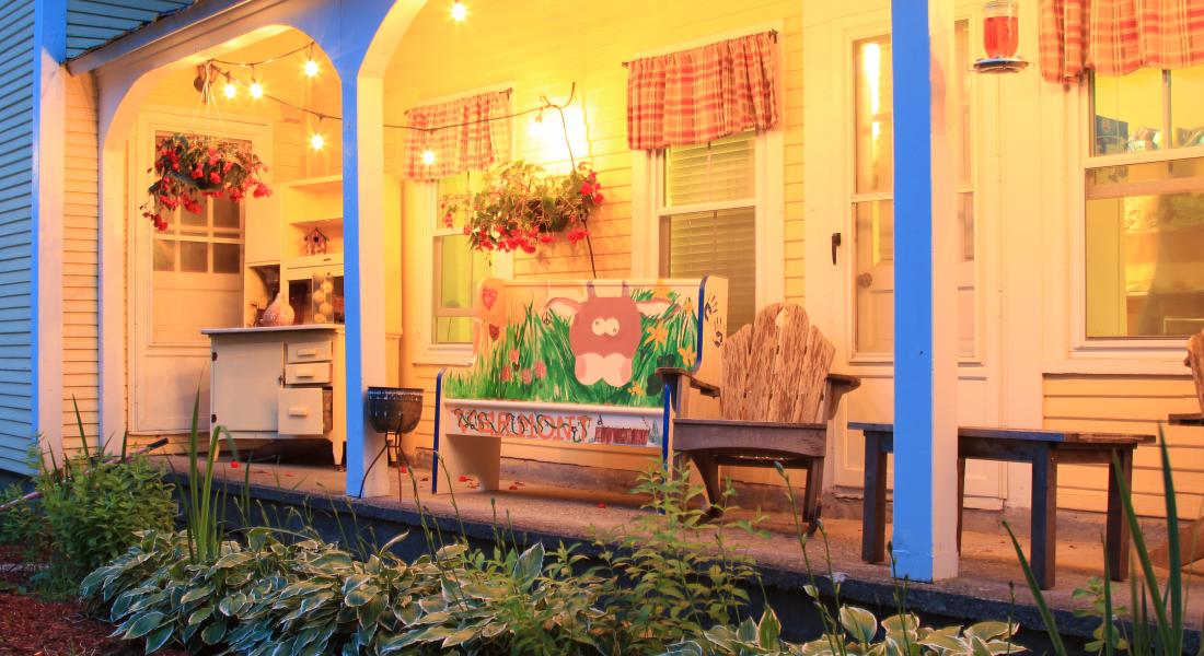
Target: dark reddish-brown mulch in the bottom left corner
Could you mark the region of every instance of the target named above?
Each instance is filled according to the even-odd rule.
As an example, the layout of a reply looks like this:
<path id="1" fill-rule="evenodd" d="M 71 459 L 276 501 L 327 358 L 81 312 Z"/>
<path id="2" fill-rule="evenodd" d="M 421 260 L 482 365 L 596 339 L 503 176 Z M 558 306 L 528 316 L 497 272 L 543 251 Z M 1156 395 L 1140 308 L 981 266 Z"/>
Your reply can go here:
<path id="1" fill-rule="evenodd" d="M 0 546 L 0 587 L 29 590 L 37 563 L 25 561 L 19 546 Z M 52 602 L 0 592 L 0 656 L 135 656 L 141 640 L 110 638 L 113 626 L 87 616 L 76 601 Z M 187 656 L 164 650 L 163 656 Z"/>

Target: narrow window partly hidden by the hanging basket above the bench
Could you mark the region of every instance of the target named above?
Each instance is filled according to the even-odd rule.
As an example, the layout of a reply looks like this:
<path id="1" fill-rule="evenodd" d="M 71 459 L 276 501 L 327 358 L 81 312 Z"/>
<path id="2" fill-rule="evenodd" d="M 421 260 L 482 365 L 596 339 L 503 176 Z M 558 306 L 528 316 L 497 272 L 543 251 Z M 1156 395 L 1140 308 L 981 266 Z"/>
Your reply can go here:
<path id="1" fill-rule="evenodd" d="M 494 274 L 489 255 L 472 249 L 462 217 L 442 214 L 439 200 L 458 199 L 467 206 L 480 190 L 482 175 L 465 172 L 432 183 L 431 225 L 431 345 L 455 345 L 472 342 L 473 292 L 484 278 Z"/>

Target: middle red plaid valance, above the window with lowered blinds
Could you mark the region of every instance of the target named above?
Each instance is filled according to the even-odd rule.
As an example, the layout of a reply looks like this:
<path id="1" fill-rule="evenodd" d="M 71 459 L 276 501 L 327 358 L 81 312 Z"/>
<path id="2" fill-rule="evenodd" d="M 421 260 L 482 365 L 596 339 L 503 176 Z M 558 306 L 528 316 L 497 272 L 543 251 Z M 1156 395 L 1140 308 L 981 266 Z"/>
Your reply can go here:
<path id="1" fill-rule="evenodd" d="M 627 64 L 627 144 L 706 143 L 778 123 L 773 32 Z"/>

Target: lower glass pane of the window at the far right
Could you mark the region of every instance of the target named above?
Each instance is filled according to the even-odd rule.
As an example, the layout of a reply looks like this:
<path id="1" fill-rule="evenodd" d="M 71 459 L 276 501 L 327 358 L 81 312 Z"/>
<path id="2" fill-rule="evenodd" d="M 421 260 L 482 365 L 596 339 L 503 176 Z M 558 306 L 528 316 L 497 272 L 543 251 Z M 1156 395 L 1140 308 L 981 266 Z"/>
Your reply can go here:
<path id="1" fill-rule="evenodd" d="M 1204 158 L 1090 169 L 1086 196 L 1087 337 L 1204 329 Z"/>

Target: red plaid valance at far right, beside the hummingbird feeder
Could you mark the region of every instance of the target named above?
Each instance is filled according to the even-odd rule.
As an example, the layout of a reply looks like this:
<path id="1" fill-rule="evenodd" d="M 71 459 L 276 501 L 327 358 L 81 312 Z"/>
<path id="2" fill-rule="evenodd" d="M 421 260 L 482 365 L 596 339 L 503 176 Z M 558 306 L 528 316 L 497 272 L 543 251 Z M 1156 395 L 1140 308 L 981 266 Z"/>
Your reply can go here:
<path id="1" fill-rule="evenodd" d="M 1204 63 L 1199 0 L 1041 0 L 1041 76 L 1074 82 L 1087 70 L 1120 76 Z"/>

